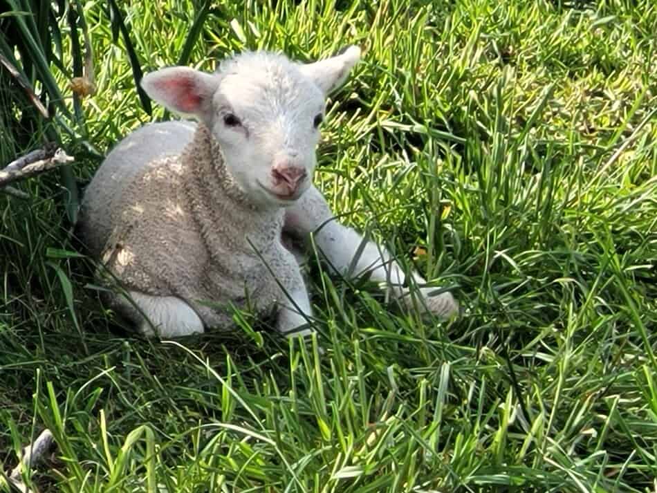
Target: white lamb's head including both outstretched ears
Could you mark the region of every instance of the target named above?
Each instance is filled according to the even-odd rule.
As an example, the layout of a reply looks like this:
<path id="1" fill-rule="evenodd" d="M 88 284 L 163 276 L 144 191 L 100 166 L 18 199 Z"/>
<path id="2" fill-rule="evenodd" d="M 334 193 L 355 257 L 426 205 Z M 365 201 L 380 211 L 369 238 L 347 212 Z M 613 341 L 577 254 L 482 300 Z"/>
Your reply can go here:
<path id="1" fill-rule="evenodd" d="M 326 95 L 359 58 L 355 46 L 311 64 L 248 52 L 212 74 L 163 68 L 147 74 L 142 87 L 168 109 L 207 125 L 225 166 L 252 201 L 288 205 L 311 184 Z"/>

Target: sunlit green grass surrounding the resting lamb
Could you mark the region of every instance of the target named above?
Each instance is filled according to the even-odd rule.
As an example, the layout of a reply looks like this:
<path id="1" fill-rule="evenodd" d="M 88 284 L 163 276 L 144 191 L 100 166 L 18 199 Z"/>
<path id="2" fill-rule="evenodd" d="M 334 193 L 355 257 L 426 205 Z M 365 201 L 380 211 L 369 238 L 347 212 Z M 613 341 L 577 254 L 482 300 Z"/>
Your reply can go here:
<path id="1" fill-rule="evenodd" d="M 176 64 L 193 3 L 131 4 L 144 70 Z M 100 164 L 85 142 L 103 153 L 149 121 L 106 5 L 85 4 L 98 93 L 67 141 L 80 185 Z M 640 0 L 214 3 L 198 68 L 365 49 L 316 181 L 465 315 L 420 319 L 314 263 L 323 357 L 263 325 L 145 341 L 98 303 L 59 177 L 21 183 L 29 205 L 0 197 L 3 470 L 49 427 L 42 490 L 654 492 L 656 26 Z"/>

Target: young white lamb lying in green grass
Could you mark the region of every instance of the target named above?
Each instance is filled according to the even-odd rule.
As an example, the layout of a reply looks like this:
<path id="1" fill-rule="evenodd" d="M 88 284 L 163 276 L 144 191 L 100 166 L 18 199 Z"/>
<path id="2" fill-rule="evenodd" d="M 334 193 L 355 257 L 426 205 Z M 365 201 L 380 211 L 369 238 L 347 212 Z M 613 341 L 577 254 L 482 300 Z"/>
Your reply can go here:
<path id="1" fill-rule="evenodd" d="M 409 300 L 400 266 L 337 223 L 312 185 L 326 95 L 358 59 L 356 46 L 308 64 L 258 51 L 224 60 L 215 73 L 174 66 L 147 74 L 149 97 L 198 122 L 133 131 L 87 187 L 80 232 L 120 288 L 104 295 L 107 304 L 145 335 L 229 329 L 233 308 L 275 315 L 281 333 L 307 335 L 311 302 L 281 238 L 313 232 L 332 270 L 367 272 Z M 412 277 L 411 285 L 425 284 Z M 419 289 L 423 305 L 452 316 L 454 297 L 429 297 L 435 289 Z"/>

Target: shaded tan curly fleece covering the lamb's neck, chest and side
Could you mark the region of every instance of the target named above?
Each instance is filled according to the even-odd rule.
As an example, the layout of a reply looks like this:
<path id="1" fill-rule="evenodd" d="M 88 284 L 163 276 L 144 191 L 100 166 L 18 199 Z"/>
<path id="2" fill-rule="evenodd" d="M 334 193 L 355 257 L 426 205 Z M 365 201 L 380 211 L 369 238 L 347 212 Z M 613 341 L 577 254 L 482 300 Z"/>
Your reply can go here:
<path id="1" fill-rule="evenodd" d="M 231 304 L 263 315 L 295 288 L 296 261 L 281 243 L 284 210 L 249 201 L 204 124 L 182 154 L 152 160 L 118 180 L 122 189 L 98 178 L 106 187 L 86 198 L 83 236 L 127 290 L 178 297 L 206 327 L 230 328 Z M 117 296 L 108 301 L 121 309 Z"/>

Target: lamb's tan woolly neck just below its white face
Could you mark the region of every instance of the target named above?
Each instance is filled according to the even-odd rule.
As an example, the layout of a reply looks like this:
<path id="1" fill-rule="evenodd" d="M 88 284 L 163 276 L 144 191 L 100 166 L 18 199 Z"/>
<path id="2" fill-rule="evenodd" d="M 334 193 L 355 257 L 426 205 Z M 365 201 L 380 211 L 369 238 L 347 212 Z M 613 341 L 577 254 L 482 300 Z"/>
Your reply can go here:
<path id="1" fill-rule="evenodd" d="M 183 153 L 189 169 L 186 194 L 192 215 L 210 250 L 267 250 L 279 241 L 284 211 L 259 207 L 241 191 L 226 169 L 216 139 L 198 124 Z"/>

